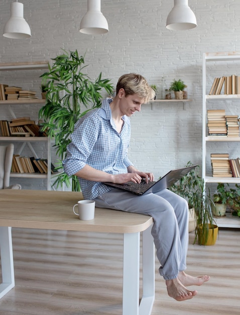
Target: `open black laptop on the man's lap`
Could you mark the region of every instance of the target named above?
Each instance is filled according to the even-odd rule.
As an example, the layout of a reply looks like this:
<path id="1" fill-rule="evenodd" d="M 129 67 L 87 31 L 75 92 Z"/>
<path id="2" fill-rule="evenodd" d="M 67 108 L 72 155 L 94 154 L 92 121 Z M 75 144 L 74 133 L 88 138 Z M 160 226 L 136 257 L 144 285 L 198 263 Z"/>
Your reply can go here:
<path id="1" fill-rule="evenodd" d="M 103 184 L 112 188 L 121 189 L 142 196 L 144 194 L 156 193 L 158 191 L 171 187 L 174 183 L 180 180 L 183 176 L 187 175 L 197 166 L 198 165 L 192 165 L 185 168 L 172 170 L 161 177 L 158 181 L 149 182 L 148 184 L 146 183 L 145 179 L 143 179 L 141 183 L 128 182 L 126 184 L 114 184 L 104 182 Z"/>

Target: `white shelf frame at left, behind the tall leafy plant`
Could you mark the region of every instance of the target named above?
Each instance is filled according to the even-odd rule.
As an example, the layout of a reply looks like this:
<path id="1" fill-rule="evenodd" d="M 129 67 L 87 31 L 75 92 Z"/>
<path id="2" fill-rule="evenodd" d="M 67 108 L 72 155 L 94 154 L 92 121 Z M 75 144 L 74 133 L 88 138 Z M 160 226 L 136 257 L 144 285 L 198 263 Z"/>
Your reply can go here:
<path id="1" fill-rule="evenodd" d="M 34 69 L 48 69 L 47 61 L 35 61 L 35 62 L 16 62 L 16 63 L 0 63 L 0 71 L 4 70 L 34 70 Z M 8 110 L 10 111 L 13 118 L 16 118 L 13 107 L 21 106 L 23 104 L 44 104 L 45 100 L 42 99 L 33 99 L 33 100 L 6 100 L 0 101 L 0 105 L 8 106 Z M 11 173 L 11 177 L 16 178 L 30 178 L 30 179 L 47 179 L 47 190 L 51 190 L 51 139 L 49 137 L 0 137 L 0 142 L 22 142 L 20 149 L 15 154 L 21 154 L 27 145 L 36 159 L 38 159 L 38 155 L 34 150 L 32 143 L 41 143 L 47 142 L 48 152 L 48 173 L 40 174 L 40 173 Z"/>

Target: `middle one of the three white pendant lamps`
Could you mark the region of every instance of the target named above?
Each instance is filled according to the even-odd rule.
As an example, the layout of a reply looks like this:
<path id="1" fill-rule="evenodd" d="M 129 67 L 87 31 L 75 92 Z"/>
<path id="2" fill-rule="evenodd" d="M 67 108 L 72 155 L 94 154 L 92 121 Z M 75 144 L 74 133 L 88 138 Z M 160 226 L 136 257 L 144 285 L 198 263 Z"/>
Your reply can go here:
<path id="1" fill-rule="evenodd" d="M 90 35 L 108 32 L 107 20 L 101 13 L 100 0 L 87 0 L 87 13 L 81 20 L 79 32 Z"/>

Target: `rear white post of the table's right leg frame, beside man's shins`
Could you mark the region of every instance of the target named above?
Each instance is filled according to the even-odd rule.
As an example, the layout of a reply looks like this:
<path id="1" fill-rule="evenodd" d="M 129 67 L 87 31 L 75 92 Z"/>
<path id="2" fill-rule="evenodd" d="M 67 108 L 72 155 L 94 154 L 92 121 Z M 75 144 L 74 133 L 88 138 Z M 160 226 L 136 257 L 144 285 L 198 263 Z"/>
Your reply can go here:
<path id="1" fill-rule="evenodd" d="M 155 247 L 152 226 L 143 231 L 143 297 L 139 315 L 151 315 L 155 299 Z"/>

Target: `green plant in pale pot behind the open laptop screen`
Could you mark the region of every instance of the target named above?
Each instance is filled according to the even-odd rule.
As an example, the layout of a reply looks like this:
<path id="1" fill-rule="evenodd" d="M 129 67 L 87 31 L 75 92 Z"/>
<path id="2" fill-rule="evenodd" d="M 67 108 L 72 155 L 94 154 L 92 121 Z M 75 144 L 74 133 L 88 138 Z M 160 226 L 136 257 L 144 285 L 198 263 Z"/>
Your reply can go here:
<path id="1" fill-rule="evenodd" d="M 189 161 L 186 165 L 192 166 L 193 164 Z M 199 167 L 196 167 L 194 170 L 190 171 L 187 175 L 183 176 L 179 181 L 174 183 L 169 190 L 178 194 L 179 196 L 185 198 L 188 202 L 189 208 L 189 225 L 188 231 L 192 232 L 195 230 L 195 211 L 194 211 L 194 194 L 198 189 L 199 181 L 201 177 L 199 175 Z"/>

